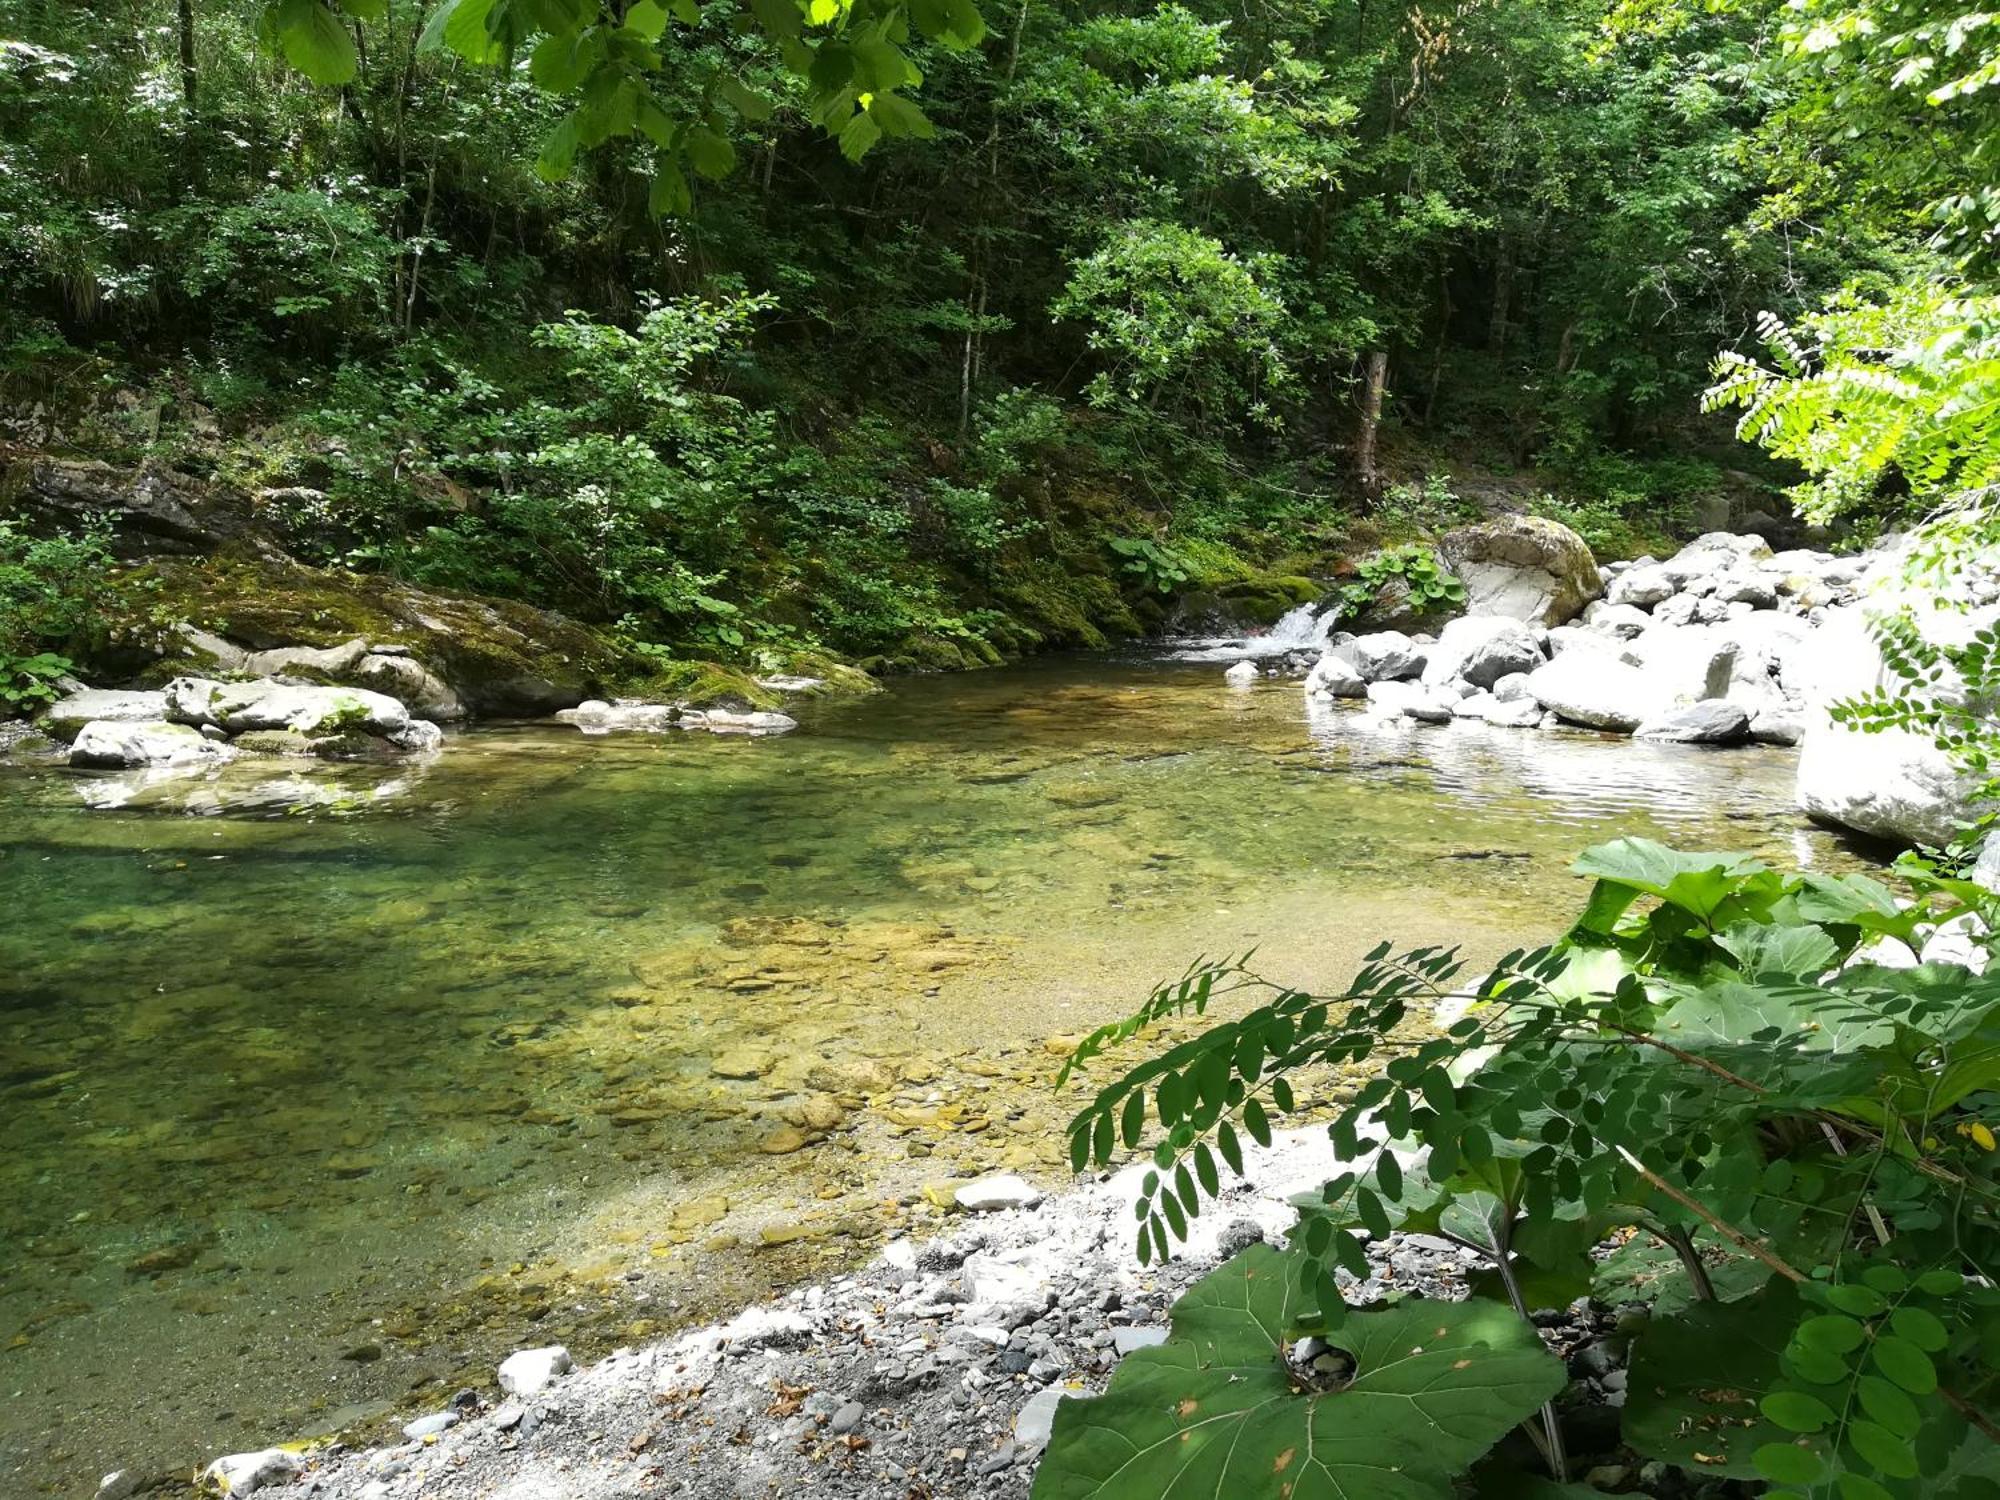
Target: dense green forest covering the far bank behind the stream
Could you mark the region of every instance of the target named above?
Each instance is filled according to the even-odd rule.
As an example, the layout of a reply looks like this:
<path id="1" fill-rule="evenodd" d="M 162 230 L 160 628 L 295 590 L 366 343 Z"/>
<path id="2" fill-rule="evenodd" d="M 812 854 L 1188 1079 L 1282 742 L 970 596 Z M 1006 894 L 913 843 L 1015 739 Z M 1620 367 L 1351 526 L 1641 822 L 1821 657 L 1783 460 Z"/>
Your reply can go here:
<path id="1" fill-rule="evenodd" d="M 1642 548 L 1716 348 L 1934 254 L 1792 24 L 10 0 L 0 398 L 674 652 L 1088 642 L 1424 472 Z"/>

